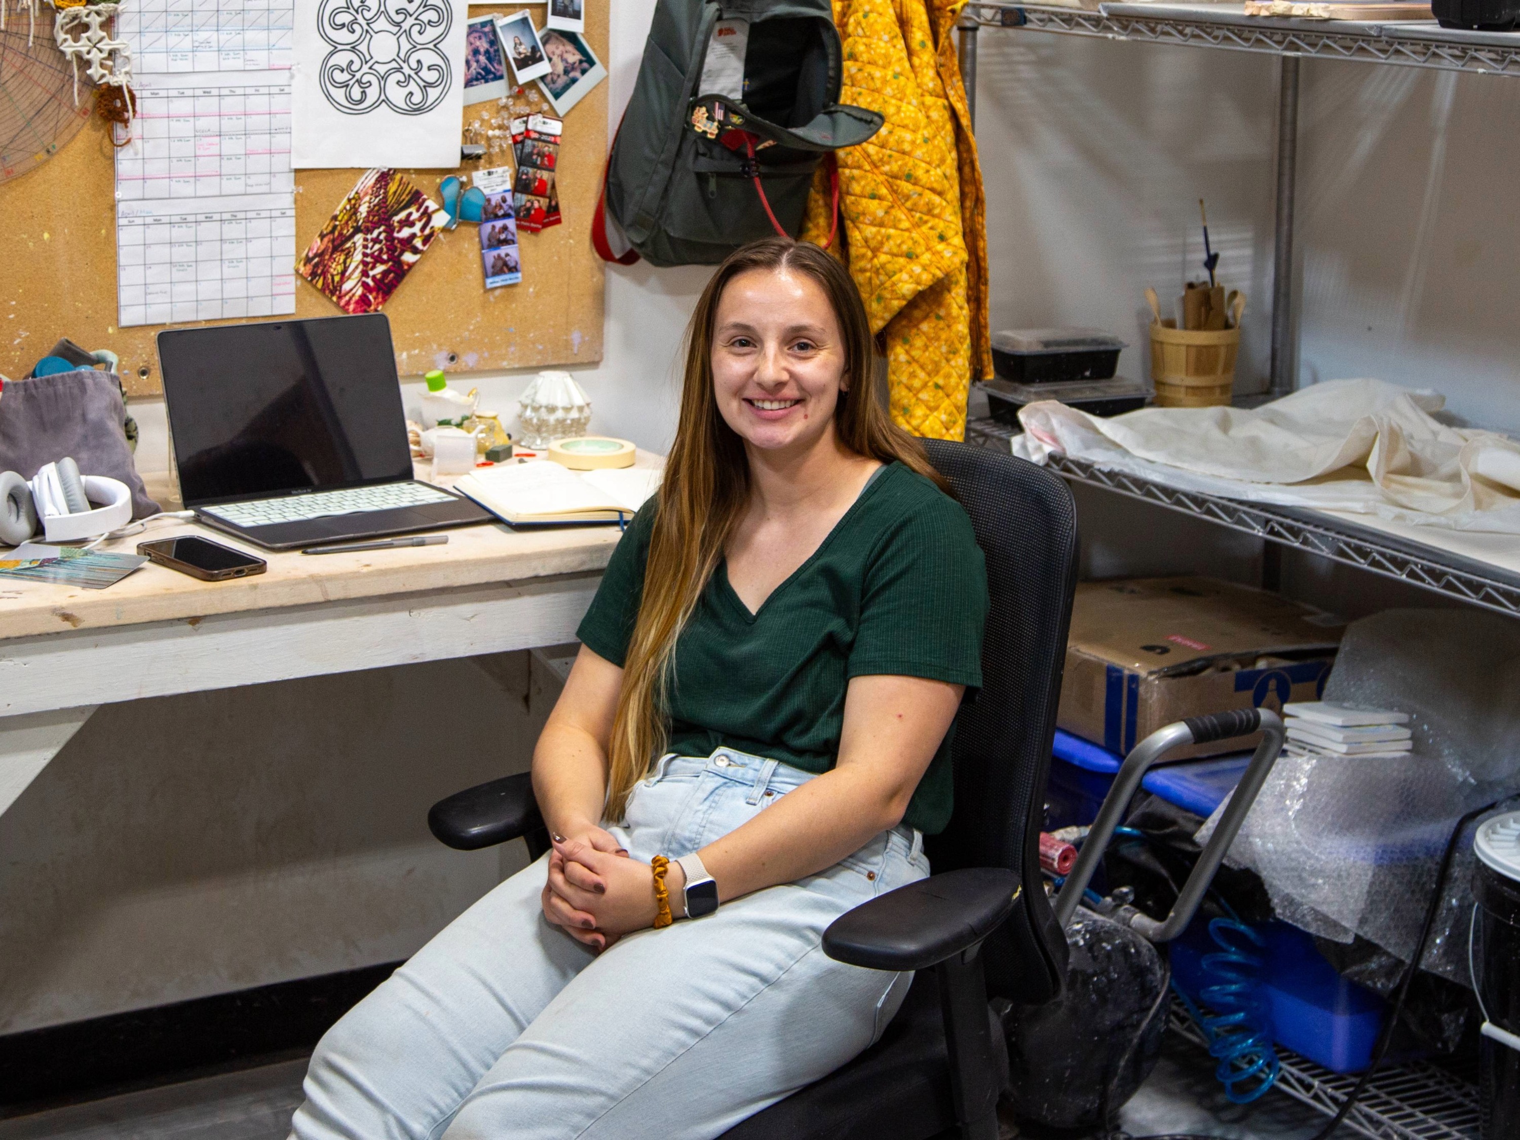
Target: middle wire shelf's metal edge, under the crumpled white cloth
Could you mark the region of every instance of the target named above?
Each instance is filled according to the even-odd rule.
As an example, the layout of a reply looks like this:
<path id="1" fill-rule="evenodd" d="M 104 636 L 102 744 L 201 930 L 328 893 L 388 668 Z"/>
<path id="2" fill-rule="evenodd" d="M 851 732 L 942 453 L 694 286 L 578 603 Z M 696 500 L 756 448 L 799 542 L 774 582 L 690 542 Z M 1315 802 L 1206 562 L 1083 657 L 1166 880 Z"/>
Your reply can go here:
<path id="1" fill-rule="evenodd" d="M 1008 447 L 1014 429 L 996 420 L 973 420 L 967 439 L 983 445 Z M 1446 597 L 1520 617 L 1520 576 L 1497 567 L 1417 543 L 1403 543 L 1377 530 L 1344 523 L 1339 518 L 1287 506 L 1243 503 L 1237 499 L 1178 491 L 1123 471 L 1108 471 L 1082 459 L 1050 456 L 1050 470 L 1088 486 L 1117 491 L 1183 514 L 1204 518 L 1231 530 L 1265 538 L 1280 546 L 1307 550 L 1345 565 L 1370 570 L 1383 578 L 1409 582 Z"/>

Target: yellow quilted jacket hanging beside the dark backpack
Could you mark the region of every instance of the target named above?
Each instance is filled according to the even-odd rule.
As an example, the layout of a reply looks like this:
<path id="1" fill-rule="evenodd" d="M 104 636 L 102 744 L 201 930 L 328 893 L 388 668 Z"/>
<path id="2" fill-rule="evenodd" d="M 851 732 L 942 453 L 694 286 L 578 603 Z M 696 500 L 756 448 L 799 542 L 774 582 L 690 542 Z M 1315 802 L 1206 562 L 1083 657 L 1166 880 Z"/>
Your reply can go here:
<path id="1" fill-rule="evenodd" d="M 964 438 L 970 382 L 993 374 L 982 170 L 952 32 L 964 5 L 833 0 L 839 102 L 886 117 L 868 143 L 838 152 L 844 255 L 886 342 L 892 418 L 938 439 Z M 827 239 L 828 204 L 821 169 L 807 240 Z"/>

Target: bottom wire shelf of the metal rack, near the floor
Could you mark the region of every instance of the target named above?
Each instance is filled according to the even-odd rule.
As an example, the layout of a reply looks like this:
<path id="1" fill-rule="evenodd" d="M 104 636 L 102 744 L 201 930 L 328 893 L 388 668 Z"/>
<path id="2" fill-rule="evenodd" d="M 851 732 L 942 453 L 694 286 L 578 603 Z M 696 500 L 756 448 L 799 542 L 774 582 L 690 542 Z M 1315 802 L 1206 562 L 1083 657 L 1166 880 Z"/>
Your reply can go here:
<path id="1" fill-rule="evenodd" d="M 1167 1026 L 1187 1041 L 1208 1044 L 1181 1003 L 1172 1005 Z M 1281 1072 L 1275 1088 L 1335 1116 L 1356 1085 L 1356 1076 L 1333 1073 L 1290 1049 L 1278 1047 Z M 1424 1061 L 1388 1066 L 1373 1076 L 1345 1126 L 1371 1140 L 1477 1140 L 1477 1088 L 1461 1076 Z"/>

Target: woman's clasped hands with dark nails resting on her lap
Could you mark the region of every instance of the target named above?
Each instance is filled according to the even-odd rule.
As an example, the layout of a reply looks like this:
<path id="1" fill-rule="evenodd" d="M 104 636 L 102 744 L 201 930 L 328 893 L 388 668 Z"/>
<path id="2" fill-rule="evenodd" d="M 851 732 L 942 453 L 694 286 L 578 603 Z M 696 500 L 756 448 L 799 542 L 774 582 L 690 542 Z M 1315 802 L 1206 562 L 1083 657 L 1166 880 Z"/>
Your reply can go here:
<path id="1" fill-rule="evenodd" d="M 682 883 L 681 865 L 670 863 L 666 889 L 675 914 L 681 914 L 675 900 Z M 654 926 L 654 871 L 631 859 L 605 828 L 582 827 L 553 841 L 543 907 L 544 917 L 578 942 L 605 950 L 623 935 Z"/>

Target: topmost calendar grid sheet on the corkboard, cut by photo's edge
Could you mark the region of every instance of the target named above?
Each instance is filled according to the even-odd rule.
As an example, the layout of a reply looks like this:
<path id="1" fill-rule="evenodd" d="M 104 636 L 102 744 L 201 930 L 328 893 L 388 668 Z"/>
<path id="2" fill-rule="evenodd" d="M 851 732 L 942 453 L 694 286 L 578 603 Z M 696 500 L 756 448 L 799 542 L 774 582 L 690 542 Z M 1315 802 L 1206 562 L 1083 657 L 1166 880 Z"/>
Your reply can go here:
<path id="1" fill-rule="evenodd" d="M 138 0 L 119 21 L 137 74 L 290 67 L 293 0 Z"/>

